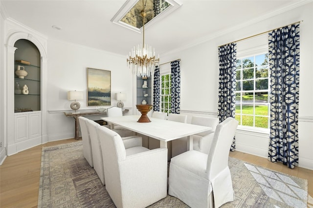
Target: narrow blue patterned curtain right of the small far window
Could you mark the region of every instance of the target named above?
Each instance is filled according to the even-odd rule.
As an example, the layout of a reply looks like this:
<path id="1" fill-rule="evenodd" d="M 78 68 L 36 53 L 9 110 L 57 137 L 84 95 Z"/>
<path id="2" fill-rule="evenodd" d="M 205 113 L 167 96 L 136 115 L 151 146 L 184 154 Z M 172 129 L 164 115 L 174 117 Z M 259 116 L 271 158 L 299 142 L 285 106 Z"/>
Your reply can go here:
<path id="1" fill-rule="evenodd" d="M 179 60 L 171 62 L 172 102 L 171 113 L 180 113 L 180 65 Z"/>

